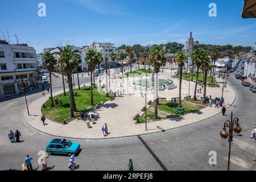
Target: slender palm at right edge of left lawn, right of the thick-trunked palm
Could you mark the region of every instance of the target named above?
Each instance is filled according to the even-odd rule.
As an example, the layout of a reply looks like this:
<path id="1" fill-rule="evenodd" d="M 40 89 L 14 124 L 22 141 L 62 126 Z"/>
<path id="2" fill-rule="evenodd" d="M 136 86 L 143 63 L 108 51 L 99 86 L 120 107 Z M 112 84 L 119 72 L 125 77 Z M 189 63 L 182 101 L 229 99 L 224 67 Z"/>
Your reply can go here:
<path id="1" fill-rule="evenodd" d="M 93 106 L 93 69 L 96 65 L 96 52 L 89 50 L 88 53 L 86 53 L 86 63 L 90 68 L 90 105 Z"/>

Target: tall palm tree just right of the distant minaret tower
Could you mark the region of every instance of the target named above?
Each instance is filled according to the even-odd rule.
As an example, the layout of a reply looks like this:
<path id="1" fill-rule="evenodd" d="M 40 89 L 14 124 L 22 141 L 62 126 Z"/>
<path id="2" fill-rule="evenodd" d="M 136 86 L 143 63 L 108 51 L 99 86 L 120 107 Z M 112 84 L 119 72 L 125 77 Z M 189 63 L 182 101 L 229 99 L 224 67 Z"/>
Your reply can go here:
<path id="1" fill-rule="evenodd" d="M 197 83 L 198 83 L 198 77 L 199 77 L 199 69 L 202 64 L 202 60 L 204 58 L 204 50 L 203 49 L 196 49 L 196 51 L 192 52 L 192 60 L 193 63 L 195 63 L 197 67 L 197 72 L 196 72 L 196 85 L 195 85 L 195 92 L 194 92 L 194 100 L 196 101 L 196 89 L 197 89 Z"/>

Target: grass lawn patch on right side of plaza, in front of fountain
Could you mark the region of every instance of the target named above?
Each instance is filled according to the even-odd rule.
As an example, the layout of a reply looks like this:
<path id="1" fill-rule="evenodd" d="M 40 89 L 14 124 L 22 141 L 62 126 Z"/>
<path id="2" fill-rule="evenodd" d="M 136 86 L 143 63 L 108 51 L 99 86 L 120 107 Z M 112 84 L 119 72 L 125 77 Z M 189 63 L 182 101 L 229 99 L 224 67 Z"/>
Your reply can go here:
<path id="1" fill-rule="evenodd" d="M 177 102 L 178 104 L 178 102 Z M 193 100 L 183 100 L 181 101 L 181 105 L 184 108 L 185 114 L 189 114 L 195 111 L 199 111 L 203 109 L 204 107 L 208 106 L 208 104 L 203 104 L 203 101 L 193 101 Z M 155 102 L 152 103 L 152 105 L 147 109 L 147 119 L 148 121 L 154 121 L 154 110 L 155 108 Z M 170 115 L 174 115 L 179 117 L 180 115 L 185 115 L 185 114 L 176 114 L 174 113 L 174 107 L 171 105 L 170 101 L 159 101 L 158 105 L 158 110 L 159 111 L 164 111 L 165 113 L 168 113 Z M 141 118 L 139 118 L 139 123 L 144 123 L 145 122 L 145 115 L 146 113 L 143 113 Z M 162 120 L 162 118 L 156 119 L 156 121 Z"/>

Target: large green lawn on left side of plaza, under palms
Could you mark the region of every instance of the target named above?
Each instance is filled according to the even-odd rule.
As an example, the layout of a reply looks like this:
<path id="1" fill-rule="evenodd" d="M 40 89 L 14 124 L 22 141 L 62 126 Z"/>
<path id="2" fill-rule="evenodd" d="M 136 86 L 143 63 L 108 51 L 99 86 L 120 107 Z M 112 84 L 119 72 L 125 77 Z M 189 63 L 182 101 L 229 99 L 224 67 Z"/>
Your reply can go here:
<path id="1" fill-rule="evenodd" d="M 93 110 L 95 106 L 90 105 L 90 90 L 88 86 L 82 87 L 80 90 L 75 89 L 74 93 L 79 93 L 79 96 L 75 96 L 76 109 L 75 116 L 78 115 L 81 111 L 90 111 Z M 46 115 L 47 118 L 52 121 L 63 123 L 63 119 L 67 119 L 67 122 L 72 121 L 74 118 L 70 118 L 70 101 L 69 101 L 69 92 L 66 92 L 67 96 L 64 94 L 60 94 L 57 97 L 59 100 L 63 102 L 59 107 L 53 107 L 53 109 L 47 109 L 51 106 L 51 101 L 48 100 L 45 103 L 46 108 L 42 106 L 42 113 Z M 53 102 L 54 98 L 53 97 Z M 112 97 L 110 94 L 109 97 Z M 106 102 L 109 98 L 106 97 L 106 94 L 101 94 L 98 92 L 97 88 L 93 89 L 93 101 L 94 104 L 100 104 L 101 101 Z M 55 104 L 55 102 L 54 102 Z"/>

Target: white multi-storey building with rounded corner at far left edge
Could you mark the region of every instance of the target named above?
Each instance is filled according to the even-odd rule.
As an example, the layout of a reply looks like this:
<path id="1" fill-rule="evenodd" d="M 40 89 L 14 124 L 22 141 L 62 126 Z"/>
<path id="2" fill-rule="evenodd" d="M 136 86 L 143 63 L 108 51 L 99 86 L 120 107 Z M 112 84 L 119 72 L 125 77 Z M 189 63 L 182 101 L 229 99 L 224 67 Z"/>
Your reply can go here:
<path id="1" fill-rule="evenodd" d="M 36 88 L 36 51 L 0 40 L 0 98 Z"/>

